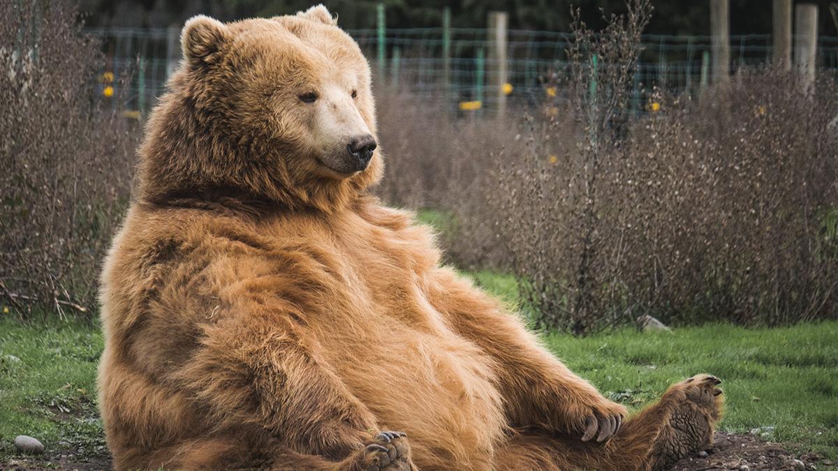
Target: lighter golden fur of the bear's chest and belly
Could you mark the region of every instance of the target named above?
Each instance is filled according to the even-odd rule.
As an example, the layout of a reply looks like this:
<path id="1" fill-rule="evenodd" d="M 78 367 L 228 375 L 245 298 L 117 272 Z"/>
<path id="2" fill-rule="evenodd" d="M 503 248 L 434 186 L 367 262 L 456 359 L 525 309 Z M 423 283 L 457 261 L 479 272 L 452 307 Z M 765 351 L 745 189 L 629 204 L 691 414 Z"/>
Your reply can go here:
<path id="1" fill-rule="evenodd" d="M 425 251 L 436 249 L 362 235 L 328 247 L 339 261 L 330 270 L 333 308 L 309 321 L 323 356 L 378 426 L 407 432 L 417 453 L 490 456 L 505 427 L 493 360 L 427 298 L 422 270 L 434 254 Z M 463 450 L 430 449 L 439 430 L 458 431 Z"/>

